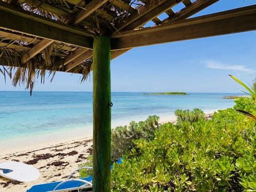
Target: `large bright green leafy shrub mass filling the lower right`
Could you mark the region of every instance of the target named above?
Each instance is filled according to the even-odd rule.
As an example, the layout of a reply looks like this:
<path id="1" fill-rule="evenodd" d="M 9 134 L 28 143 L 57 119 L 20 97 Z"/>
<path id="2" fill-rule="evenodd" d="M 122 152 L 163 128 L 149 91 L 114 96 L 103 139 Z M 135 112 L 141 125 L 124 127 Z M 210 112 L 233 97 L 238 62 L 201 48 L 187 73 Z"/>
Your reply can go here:
<path id="1" fill-rule="evenodd" d="M 255 191 L 254 122 L 233 108 L 208 121 L 194 113 L 180 110 L 177 125 L 133 140 L 123 164 L 114 165 L 113 191 Z"/>

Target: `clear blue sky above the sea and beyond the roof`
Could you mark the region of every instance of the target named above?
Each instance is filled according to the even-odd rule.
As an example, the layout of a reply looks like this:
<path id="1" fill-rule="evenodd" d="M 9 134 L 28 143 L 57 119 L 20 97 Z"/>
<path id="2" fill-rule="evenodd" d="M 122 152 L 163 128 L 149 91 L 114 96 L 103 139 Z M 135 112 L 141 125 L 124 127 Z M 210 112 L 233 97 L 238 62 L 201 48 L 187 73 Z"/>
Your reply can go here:
<path id="1" fill-rule="evenodd" d="M 232 2 L 232 3 L 231 3 Z M 255 0 L 220 0 L 195 16 L 254 5 Z M 112 91 L 241 92 L 228 74 L 252 84 L 256 78 L 256 31 L 138 47 L 111 61 Z M 2 78 L 2 79 L 1 79 Z M 92 91 L 91 77 L 57 73 L 34 91 Z M 23 91 L 4 83 L 0 90 Z"/>

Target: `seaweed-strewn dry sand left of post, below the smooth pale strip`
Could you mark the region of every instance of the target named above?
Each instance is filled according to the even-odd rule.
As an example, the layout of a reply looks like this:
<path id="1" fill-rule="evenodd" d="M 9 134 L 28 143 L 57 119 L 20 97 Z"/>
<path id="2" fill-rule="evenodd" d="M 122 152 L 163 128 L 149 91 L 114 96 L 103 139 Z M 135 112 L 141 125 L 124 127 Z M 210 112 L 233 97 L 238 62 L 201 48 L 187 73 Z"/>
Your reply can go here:
<path id="1" fill-rule="evenodd" d="M 38 169 L 41 175 L 33 182 L 17 182 L 0 177 L 0 191 L 26 191 L 38 183 L 65 180 L 79 164 L 86 162 L 92 151 L 92 137 L 45 143 L 44 147 L 35 145 L 9 149 L 9 152 L 1 151 L 0 162 L 26 163 Z"/>

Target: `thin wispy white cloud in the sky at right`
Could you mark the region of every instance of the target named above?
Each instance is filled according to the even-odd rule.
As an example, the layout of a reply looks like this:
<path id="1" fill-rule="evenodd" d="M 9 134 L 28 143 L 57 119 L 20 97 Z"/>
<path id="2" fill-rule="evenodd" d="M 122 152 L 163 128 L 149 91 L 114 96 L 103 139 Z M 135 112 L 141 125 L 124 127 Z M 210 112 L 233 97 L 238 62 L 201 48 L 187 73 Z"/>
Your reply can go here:
<path id="1" fill-rule="evenodd" d="M 256 71 L 250 68 L 246 68 L 243 65 L 225 65 L 221 62 L 213 61 L 213 60 L 206 60 L 204 61 L 207 68 L 212 69 L 225 69 L 225 70 L 235 70 L 241 71 L 246 73 L 255 73 Z"/>

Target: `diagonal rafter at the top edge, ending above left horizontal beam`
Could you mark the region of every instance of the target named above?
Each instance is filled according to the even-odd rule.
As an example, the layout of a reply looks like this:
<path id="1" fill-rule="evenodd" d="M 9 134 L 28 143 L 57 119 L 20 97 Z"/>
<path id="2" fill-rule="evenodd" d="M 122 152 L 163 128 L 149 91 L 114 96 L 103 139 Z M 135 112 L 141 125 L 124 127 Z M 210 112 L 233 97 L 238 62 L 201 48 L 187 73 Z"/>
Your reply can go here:
<path id="1" fill-rule="evenodd" d="M 101 7 L 103 4 L 107 3 L 108 0 L 92 0 L 87 4 L 83 10 L 79 11 L 69 23 L 77 24 L 92 14 L 95 10 Z"/>

